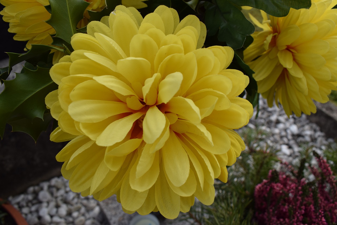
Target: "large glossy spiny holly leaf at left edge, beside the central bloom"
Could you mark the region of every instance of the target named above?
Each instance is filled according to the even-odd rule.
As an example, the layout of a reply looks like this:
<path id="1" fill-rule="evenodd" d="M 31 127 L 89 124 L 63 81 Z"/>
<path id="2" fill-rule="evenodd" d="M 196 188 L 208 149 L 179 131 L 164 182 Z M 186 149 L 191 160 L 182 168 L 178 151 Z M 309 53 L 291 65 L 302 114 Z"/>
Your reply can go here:
<path id="1" fill-rule="evenodd" d="M 6 123 L 14 118 L 43 118 L 47 107 L 44 98 L 57 89 L 57 84 L 49 75 L 49 68 L 37 67 L 35 70 L 24 67 L 13 80 L 5 80 L 5 90 L 0 94 L 0 136 L 2 138 Z"/>

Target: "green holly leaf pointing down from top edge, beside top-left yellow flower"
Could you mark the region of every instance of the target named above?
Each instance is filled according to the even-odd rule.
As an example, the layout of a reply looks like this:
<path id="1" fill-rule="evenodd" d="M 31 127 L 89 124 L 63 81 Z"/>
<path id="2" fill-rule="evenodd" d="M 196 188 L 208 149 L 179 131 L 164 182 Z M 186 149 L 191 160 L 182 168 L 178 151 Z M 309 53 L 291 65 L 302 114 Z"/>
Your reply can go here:
<path id="1" fill-rule="evenodd" d="M 56 30 L 55 37 L 70 44 L 76 25 L 83 19 L 83 12 L 90 3 L 84 0 L 49 0 L 49 3 L 52 16 L 46 22 Z"/>

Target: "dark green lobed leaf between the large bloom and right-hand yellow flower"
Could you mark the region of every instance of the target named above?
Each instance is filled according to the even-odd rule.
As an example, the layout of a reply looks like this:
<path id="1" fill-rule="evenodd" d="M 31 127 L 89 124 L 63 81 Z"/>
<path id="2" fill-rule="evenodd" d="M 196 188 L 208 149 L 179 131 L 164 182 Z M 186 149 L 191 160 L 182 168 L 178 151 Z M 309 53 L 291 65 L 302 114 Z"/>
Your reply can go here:
<path id="1" fill-rule="evenodd" d="M 207 35 L 212 36 L 218 32 L 218 40 L 226 42 L 233 49 L 241 48 L 246 36 L 255 30 L 253 24 L 229 0 L 205 2 L 205 8 Z"/>

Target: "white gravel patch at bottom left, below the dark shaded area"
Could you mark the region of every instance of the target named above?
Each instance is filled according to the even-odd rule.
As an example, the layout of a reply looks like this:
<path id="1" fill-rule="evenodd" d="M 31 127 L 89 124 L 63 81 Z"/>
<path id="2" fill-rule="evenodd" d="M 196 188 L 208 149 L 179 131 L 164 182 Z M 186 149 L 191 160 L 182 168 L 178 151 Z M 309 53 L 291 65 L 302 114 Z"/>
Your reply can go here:
<path id="1" fill-rule="evenodd" d="M 31 186 L 23 194 L 9 197 L 29 225 L 101 225 L 108 224 L 92 196 L 82 197 L 70 191 L 69 181 L 54 177 Z"/>

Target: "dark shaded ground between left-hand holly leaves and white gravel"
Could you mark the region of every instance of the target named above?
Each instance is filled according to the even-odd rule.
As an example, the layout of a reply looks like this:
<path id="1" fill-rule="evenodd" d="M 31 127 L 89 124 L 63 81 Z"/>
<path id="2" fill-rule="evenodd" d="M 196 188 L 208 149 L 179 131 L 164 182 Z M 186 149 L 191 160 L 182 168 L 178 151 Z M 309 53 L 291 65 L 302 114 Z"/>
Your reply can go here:
<path id="1" fill-rule="evenodd" d="M 42 132 L 35 141 L 26 133 L 10 132 L 7 125 L 0 140 L 0 198 L 24 192 L 29 186 L 60 176 L 62 163 L 56 154 L 66 143 L 49 140 L 49 132 Z"/>

